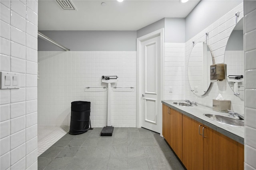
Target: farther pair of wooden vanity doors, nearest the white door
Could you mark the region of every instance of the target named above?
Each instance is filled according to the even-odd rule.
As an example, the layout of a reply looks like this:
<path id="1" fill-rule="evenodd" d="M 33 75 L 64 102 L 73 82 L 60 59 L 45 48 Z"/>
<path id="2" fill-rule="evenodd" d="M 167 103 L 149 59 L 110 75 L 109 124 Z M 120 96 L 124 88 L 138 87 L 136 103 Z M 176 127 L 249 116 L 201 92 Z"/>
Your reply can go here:
<path id="1" fill-rule="evenodd" d="M 163 105 L 163 136 L 182 160 L 182 113 Z"/>

